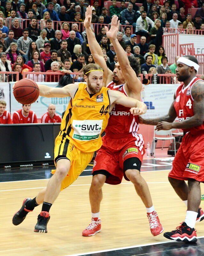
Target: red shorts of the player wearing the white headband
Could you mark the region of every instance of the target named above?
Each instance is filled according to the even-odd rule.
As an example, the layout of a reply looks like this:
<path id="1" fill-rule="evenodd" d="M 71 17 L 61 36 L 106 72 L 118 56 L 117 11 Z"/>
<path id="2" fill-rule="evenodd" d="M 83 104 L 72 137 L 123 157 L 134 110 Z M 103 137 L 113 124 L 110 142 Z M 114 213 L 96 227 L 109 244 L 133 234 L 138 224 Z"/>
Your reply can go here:
<path id="1" fill-rule="evenodd" d="M 204 133 L 186 133 L 172 163 L 169 177 L 204 182 Z"/>

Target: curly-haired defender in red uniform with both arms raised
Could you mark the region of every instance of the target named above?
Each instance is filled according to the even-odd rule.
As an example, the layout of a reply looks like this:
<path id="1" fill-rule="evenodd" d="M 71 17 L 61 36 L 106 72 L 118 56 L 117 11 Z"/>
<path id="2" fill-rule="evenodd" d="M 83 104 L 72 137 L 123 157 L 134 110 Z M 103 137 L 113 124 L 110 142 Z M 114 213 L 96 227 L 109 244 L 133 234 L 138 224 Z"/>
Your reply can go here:
<path id="1" fill-rule="evenodd" d="M 97 64 L 104 68 L 104 83 L 111 90 L 123 92 L 141 100 L 142 84 L 137 78 L 138 66 L 136 60 L 128 59 L 125 51 L 117 40 L 119 28 L 118 18 L 113 18 L 111 28 L 106 35 L 111 40 L 114 50 L 118 56 L 118 62 L 112 72 L 107 68 L 103 58 L 102 50 L 91 30 L 92 7 L 86 10 L 84 26 L 88 37 L 91 54 Z M 104 111 L 106 111 L 104 109 Z M 144 142 L 139 129 L 138 117 L 129 115 L 129 108 L 116 104 L 110 113 L 103 137 L 103 145 L 98 150 L 93 167 L 93 179 L 90 187 L 90 204 L 92 219 L 90 225 L 83 230 L 82 236 L 93 236 L 101 230 L 101 219 L 99 216 L 100 202 L 102 200 L 103 184 L 119 184 L 122 178 L 130 180 L 145 204 L 147 217 L 150 222 L 150 230 L 153 236 L 159 235 L 163 227 L 158 215 L 154 210 L 150 191 L 146 181 L 140 175 L 140 167 L 145 153 Z"/>

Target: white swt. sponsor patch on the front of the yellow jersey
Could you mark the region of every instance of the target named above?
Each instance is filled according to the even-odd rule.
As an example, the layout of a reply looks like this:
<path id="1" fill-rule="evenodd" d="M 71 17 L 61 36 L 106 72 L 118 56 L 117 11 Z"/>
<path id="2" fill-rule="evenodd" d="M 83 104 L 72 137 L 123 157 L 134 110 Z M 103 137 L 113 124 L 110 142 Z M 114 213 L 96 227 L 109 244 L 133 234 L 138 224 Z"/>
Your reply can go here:
<path id="1" fill-rule="evenodd" d="M 96 140 L 101 133 L 103 120 L 73 120 L 72 138 L 76 140 Z"/>

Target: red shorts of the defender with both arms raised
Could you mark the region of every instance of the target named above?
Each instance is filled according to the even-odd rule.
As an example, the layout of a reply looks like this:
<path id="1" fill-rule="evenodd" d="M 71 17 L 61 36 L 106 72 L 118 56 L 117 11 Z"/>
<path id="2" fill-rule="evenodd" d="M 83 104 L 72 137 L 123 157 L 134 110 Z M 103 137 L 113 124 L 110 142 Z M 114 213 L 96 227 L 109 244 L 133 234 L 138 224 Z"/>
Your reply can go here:
<path id="1" fill-rule="evenodd" d="M 136 139 L 130 134 L 125 138 L 113 139 L 105 135 L 102 138 L 103 144 L 97 151 L 93 172 L 98 170 L 109 172 L 111 175 L 107 177 L 106 183 L 112 185 L 120 184 L 123 176 L 128 180 L 123 172 L 123 162 L 130 157 L 137 157 L 142 162 L 145 153 L 142 135 L 138 134 L 138 136 Z"/>

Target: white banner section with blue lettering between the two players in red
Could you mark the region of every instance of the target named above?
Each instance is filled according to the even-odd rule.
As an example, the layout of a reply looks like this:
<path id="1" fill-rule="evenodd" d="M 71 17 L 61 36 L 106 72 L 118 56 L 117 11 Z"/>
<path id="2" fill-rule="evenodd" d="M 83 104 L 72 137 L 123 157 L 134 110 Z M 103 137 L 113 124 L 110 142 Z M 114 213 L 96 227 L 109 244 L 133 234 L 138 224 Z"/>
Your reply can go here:
<path id="1" fill-rule="evenodd" d="M 148 84 L 142 92 L 147 112 L 142 117 L 155 118 L 168 114 L 179 84 Z"/>

